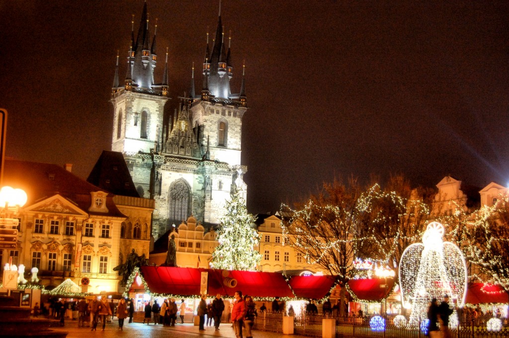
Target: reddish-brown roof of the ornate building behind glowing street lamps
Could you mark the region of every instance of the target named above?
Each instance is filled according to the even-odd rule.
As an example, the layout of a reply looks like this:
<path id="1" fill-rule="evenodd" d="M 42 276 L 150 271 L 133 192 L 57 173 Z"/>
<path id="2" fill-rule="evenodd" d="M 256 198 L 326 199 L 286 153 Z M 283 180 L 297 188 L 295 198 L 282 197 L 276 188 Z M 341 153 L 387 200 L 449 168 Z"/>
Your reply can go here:
<path id="1" fill-rule="evenodd" d="M 88 211 L 92 204 L 91 192 L 102 189 L 77 177 L 60 165 L 6 159 L 3 184 L 23 189 L 28 197 L 26 206 L 60 194 L 90 214 L 126 217 L 113 202 L 112 194 L 108 194 L 106 198 L 107 213 Z"/>

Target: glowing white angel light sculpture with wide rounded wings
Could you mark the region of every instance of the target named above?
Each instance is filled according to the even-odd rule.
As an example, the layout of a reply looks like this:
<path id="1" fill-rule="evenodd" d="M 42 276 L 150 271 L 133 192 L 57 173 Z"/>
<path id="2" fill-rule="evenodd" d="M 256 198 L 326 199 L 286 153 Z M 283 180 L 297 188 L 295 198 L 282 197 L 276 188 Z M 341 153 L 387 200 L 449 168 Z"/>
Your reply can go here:
<path id="1" fill-rule="evenodd" d="M 426 320 L 432 298 L 440 302 L 448 295 L 453 301 L 457 300 L 458 306 L 465 304 L 465 259 L 458 246 L 443 241 L 443 235 L 444 226 L 431 222 L 422 236 L 422 243 L 408 246 L 401 256 L 401 298 L 405 307 L 412 308 L 409 320 L 412 327 Z"/>

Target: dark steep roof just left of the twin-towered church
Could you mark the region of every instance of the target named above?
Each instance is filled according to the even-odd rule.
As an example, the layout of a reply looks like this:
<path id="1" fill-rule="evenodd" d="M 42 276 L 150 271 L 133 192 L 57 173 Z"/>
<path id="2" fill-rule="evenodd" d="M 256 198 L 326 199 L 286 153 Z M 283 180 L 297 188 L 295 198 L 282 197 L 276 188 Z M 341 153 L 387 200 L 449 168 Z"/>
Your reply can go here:
<path id="1" fill-rule="evenodd" d="M 122 153 L 103 150 L 87 182 L 116 195 L 140 197 Z"/>

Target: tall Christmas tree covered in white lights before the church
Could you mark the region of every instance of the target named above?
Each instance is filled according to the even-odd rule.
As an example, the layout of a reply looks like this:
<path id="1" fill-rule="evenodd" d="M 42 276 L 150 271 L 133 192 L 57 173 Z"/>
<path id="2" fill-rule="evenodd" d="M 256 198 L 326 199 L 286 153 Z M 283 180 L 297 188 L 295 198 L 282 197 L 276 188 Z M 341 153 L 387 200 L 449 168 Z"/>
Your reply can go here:
<path id="1" fill-rule="evenodd" d="M 227 213 L 221 219 L 216 239 L 219 245 L 212 253 L 214 269 L 254 270 L 262 255 L 254 249 L 260 243 L 258 231 L 251 227 L 256 220 L 247 212 L 241 191 L 227 201 Z"/>

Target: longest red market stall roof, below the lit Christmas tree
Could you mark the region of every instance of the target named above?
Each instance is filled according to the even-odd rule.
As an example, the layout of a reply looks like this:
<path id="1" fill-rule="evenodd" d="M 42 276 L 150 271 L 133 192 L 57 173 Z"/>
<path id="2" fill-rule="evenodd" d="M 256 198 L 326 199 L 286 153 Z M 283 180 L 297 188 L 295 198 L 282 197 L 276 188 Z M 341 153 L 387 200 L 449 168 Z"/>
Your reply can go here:
<path id="1" fill-rule="evenodd" d="M 195 296 L 200 294 L 201 273 L 206 271 L 208 277 L 208 294 L 233 296 L 241 290 L 245 295 L 253 297 L 294 297 L 285 278 L 280 273 L 260 271 L 228 271 L 218 269 L 195 269 L 162 266 L 142 266 L 140 268 L 150 292 Z M 225 277 L 237 280 L 235 288 L 224 285 Z M 131 290 L 136 287 L 131 286 Z"/>

